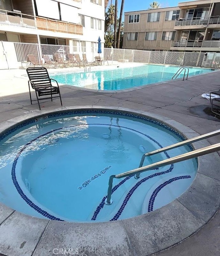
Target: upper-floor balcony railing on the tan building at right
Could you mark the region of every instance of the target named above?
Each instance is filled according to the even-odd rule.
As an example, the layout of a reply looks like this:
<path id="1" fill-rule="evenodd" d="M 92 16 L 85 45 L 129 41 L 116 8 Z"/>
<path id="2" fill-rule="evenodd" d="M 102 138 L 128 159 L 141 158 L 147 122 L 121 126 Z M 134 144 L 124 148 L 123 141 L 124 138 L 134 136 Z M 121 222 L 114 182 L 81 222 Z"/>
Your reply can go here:
<path id="1" fill-rule="evenodd" d="M 210 16 L 207 19 L 201 19 L 201 18 L 179 19 L 175 21 L 175 26 L 208 25 L 208 24 L 220 24 L 220 16 Z"/>

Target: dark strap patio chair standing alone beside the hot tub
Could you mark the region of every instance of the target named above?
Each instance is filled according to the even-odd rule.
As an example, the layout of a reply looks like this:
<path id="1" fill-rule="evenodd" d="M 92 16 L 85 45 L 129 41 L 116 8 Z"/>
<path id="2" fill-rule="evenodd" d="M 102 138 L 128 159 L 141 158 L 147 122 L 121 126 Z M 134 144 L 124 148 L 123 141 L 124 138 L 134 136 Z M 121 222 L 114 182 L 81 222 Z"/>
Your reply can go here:
<path id="1" fill-rule="evenodd" d="M 50 78 L 46 68 L 44 67 L 27 68 L 26 71 L 29 77 L 28 86 L 29 86 L 31 104 L 32 104 L 32 101 L 37 101 L 39 105 L 39 109 L 41 110 L 41 106 L 39 103 L 40 100 L 51 99 L 51 101 L 53 101 L 53 98 L 60 98 L 61 100 L 59 85 L 56 80 Z M 51 80 L 55 81 L 57 86 L 52 85 Z M 31 98 L 30 85 L 32 89 L 35 90 L 36 98 L 37 98 L 36 100 L 32 100 Z M 41 96 L 46 96 L 46 97 L 39 99 L 39 97 Z M 61 100 L 61 106 L 62 105 L 63 104 Z"/>

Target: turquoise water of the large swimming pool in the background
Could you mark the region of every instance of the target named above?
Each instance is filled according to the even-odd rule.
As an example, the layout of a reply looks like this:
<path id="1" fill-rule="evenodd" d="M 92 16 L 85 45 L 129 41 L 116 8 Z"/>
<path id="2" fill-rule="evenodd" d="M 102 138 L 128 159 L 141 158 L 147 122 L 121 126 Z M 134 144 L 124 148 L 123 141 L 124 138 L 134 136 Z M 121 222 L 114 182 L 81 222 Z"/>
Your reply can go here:
<path id="1" fill-rule="evenodd" d="M 111 67 L 91 72 L 53 74 L 58 83 L 96 90 L 123 90 L 171 80 L 178 66 L 140 65 L 132 68 Z M 189 76 L 211 72 L 211 69 L 189 68 Z M 179 78 L 183 77 L 180 74 Z"/>

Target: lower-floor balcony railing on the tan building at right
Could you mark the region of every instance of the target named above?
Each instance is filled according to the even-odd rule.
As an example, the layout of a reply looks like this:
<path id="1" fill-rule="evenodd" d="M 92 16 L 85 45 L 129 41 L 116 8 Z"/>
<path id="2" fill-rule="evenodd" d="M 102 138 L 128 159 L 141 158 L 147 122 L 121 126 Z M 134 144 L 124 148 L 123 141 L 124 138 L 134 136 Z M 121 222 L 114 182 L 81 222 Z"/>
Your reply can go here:
<path id="1" fill-rule="evenodd" d="M 202 41 L 202 40 L 172 41 L 171 47 L 220 48 L 220 41 Z"/>

